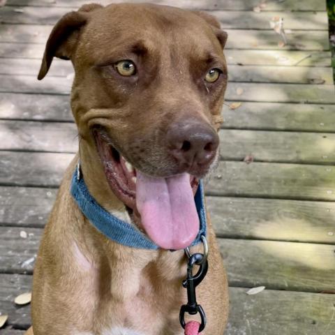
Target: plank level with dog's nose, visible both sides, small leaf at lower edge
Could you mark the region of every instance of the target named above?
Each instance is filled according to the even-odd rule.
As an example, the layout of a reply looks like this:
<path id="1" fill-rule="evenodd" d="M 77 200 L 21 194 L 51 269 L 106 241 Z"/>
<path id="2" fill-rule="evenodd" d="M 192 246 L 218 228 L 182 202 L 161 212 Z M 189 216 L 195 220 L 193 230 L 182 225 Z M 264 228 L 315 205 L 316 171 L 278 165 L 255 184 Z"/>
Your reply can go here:
<path id="1" fill-rule="evenodd" d="M 221 159 L 280 163 L 335 164 L 334 133 L 280 131 L 220 131 Z M 0 150 L 75 153 L 77 128 L 73 123 L 0 121 Z"/>

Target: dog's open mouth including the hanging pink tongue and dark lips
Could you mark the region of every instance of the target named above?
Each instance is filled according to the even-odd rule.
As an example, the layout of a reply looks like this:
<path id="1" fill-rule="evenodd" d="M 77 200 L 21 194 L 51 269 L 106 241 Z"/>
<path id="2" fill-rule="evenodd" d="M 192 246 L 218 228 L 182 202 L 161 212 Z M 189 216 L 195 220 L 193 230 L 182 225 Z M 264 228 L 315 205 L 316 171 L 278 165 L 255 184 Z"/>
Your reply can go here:
<path id="1" fill-rule="evenodd" d="M 161 248 L 190 246 L 200 225 L 194 202 L 198 179 L 186 172 L 148 176 L 126 161 L 105 131 L 94 129 L 94 137 L 108 184 L 139 228 Z"/>

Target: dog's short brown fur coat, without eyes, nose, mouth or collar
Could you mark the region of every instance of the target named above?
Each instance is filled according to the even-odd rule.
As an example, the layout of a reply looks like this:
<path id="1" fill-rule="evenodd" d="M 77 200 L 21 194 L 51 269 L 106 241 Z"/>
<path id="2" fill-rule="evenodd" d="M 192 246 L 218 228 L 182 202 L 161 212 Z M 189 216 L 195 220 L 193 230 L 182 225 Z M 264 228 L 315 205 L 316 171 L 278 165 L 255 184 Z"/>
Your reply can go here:
<path id="1" fill-rule="evenodd" d="M 202 80 L 209 63 L 225 69 L 227 36 L 218 28 L 211 15 L 144 4 L 86 5 L 54 27 L 38 78 L 46 75 L 54 56 L 73 62 L 71 107 L 82 173 L 91 195 L 107 211 L 125 209 L 107 183 L 91 127 L 103 126 L 135 168 L 163 177 L 177 173 L 165 146 L 170 124 L 192 117 L 218 130 L 222 121 L 226 73 L 210 87 Z M 128 57 L 137 62 L 137 82 L 112 70 L 115 61 Z M 128 248 L 93 228 L 69 193 L 78 159 L 79 154 L 66 170 L 40 244 L 34 335 L 100 335 L 114 325 L 145 335 L 182 334 L 184 251 Z M 227 280 L 210 221 L 208 232 L 209 272 L 197 290 L 208 319 L 202 334 L 222 335 Z M 32 329 L 26 333 L 32 334 Z"/>

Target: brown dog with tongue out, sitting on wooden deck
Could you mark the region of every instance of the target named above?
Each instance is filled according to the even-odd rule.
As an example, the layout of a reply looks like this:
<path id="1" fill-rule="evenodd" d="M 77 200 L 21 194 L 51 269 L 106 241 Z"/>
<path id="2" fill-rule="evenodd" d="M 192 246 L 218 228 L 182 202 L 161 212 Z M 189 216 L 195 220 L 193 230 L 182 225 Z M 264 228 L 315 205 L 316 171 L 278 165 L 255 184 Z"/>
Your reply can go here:
<path id="1" fill-rule="evenodd" d="M 36 261 L 35 335 L 184 334 L 183 248 L 198 234 L 193 194 L 218 157 L 227 84 L 227 35 L 219 28 L 205 13 L 124 3 L 83 6 L 52 30 L 38 78 L 53 57 L 72 61 L 80 150 Z M 124 246 L 94 228 L 70 195 L 79 158 L 98 204 L 161 248 Z M 207 314 L 202 334 L 222 335 L 227 281 L 207 224 L 209 271 L 197 297 Z"/>

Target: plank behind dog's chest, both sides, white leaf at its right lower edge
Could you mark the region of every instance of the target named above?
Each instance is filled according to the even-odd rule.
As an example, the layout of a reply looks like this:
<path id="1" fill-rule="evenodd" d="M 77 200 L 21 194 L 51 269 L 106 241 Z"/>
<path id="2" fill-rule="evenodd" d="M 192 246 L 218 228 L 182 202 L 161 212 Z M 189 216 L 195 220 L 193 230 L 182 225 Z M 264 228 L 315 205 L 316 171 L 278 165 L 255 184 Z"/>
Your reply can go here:
<path id="1" fill-rule="evenodd" d="M 20 237 L 20 232 L 27 238 Z M 31 274 L 39 228 L 0 227 L 0 271 Z M 321 292 L 334 290 L 334 246 L 283 241 L 218 239 L 230 285 Z"/>

